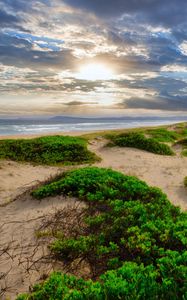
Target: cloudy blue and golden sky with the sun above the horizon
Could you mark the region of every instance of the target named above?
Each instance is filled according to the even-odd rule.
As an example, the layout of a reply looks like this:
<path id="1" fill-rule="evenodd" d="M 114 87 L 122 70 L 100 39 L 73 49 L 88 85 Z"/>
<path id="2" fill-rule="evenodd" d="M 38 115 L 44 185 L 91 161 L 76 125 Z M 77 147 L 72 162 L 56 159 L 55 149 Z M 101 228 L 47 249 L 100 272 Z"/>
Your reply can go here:
<path id="1" fill-rule="evenodd" d="M 186 113 L 186 0 L 0 0 L 0 115 Z"/>

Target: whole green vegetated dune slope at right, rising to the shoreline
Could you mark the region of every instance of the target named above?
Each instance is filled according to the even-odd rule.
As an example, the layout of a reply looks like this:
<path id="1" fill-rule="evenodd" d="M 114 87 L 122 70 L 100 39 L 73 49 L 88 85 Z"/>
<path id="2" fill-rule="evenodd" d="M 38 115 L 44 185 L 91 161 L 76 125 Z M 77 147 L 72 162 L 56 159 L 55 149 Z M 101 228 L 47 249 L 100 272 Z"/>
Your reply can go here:
<path id="1" fill-rule="evenodd" d="M 107 138 L 111 141 L 108 146 L 117 146 L 119 143 L 119 146 L 121 147 L 133 147 L 156 154 L 172 155 L 174 154 L 174 152 L 168 145 L 165 145 L 163 143 L 170 143 L 170 146 L 172 146 L 178 141 L 186 139 L 187 123 L 184 122 L 169 126 L 166 125 L 148 128 L 144 127 L 134 129 L 108 130 L 100 132 L 99 136 Z M 124 136 L 126 138 L 125 140 L 122 140 Z M 127 136 L 130 136 L 128 140 Z M 94 138 L 97 139 L 98 133 L 85 134 L 83 135 L 83 137 L 88 140 Z M 162 145 L 164 146 L 162 147 Z M 187 156 L 187 148 L 183 150 L 182 155 Z"/>

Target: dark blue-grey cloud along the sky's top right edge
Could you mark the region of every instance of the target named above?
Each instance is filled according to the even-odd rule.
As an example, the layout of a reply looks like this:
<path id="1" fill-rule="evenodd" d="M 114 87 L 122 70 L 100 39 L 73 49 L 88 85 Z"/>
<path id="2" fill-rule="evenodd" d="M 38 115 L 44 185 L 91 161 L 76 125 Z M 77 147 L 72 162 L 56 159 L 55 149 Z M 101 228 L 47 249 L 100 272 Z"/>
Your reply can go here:
<path id="1" fill-rule="evenodd" d="M 168 25 L 186 21 L 186 0 L 64 0 L 69 5 L 87 9 L 99 16 L 140 14 L 150 21 Z"/>

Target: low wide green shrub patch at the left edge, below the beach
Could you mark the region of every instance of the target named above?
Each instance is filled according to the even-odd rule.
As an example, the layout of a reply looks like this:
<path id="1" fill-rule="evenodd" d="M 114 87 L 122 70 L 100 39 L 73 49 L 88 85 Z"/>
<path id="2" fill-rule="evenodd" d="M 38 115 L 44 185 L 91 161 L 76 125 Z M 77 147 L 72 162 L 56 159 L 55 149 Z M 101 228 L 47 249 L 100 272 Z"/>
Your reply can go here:
<path id="1" fill-rule="evenodd" d="M 0 159 L 37 164 L 90 163 L 98 159 L 83 138 L 46 136 L 34 139 L 1 140 Z"/>

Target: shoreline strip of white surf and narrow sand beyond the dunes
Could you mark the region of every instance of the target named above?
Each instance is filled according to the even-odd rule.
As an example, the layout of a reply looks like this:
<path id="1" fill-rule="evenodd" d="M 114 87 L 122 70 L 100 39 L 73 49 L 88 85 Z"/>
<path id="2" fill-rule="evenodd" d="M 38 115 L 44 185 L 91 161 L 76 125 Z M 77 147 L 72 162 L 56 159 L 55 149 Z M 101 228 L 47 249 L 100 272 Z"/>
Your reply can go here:
<path id="1" fill-rule="evenodd" d="M 186 120 L 153 120 L 153 121 L 130 121 L 119 123 L 70 123 L 56 124 L 56 128 L 53 128 L 53 124 L 43 124 L 43 127 L 39 124 L 10 124 L 3 125 L 0 123 L 0 139 L 16 139 L 16 138 L 35 138 L 40 136 L 51 135 L 66 135 L 66 136 L 80 136 L 86 134 L 93 134 L 99 132 L 120 132 L 139 128 L 155 128 L 166 127 L 180 123 L 184 123 Z M 51 126 L 51 128 L 50 128 Z"/>

